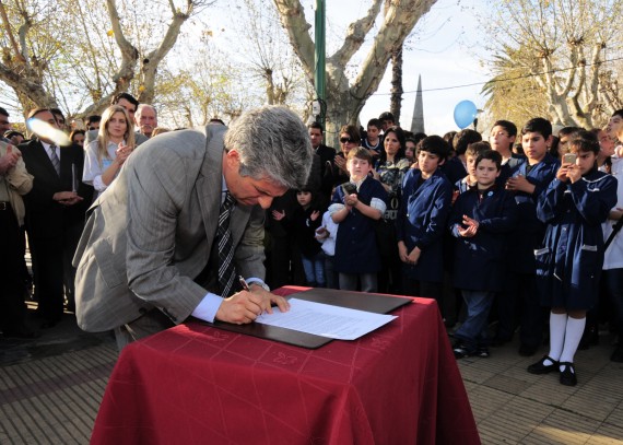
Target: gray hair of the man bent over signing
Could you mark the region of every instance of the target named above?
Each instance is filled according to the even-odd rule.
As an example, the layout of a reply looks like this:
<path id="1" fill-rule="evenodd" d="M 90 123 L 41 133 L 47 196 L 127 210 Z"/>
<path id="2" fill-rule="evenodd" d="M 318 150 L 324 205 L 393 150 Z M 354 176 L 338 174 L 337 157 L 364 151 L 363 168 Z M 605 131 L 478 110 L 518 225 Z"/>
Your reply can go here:
<path id="1" fill-rule="evenodd" d="M 280 186 L 305 187 L 312 168 L 312 140 L 303 120 L 283 106 L 252 109 L 225 133 L 225 150 L 240 155 L 240 175 Z"/>

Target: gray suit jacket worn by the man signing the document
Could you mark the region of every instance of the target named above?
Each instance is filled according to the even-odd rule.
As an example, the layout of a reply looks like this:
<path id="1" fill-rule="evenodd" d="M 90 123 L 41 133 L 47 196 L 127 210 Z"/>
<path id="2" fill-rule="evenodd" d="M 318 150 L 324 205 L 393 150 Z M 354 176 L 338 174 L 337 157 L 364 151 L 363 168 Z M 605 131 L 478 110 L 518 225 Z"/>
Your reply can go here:
<path id="1" fill-rule="evenodd" d="M 184 321 L 205 296 L 195 283 L 216 233 L 225 127 L 174 131 L 138 148 L 94 202 L 74 257 L 79 326 L 102 331 L 157 307 Z M 236 206 L 237 271 L 263 280 L 259 206 Z"/>

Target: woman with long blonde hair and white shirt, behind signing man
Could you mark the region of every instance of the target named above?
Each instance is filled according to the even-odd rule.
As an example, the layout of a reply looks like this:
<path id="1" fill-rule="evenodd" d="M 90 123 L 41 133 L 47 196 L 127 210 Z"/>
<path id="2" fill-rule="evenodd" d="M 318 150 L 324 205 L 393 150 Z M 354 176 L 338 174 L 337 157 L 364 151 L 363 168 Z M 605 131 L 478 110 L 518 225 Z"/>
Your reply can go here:
<path id="1" fill-rule="evenodd" d="M 117 177 L 134 148 L 134 128 L 128 112 L 111 105 L 102 115 L 97 139 L 86 145 L 82 180 L 99 196 Z"/>

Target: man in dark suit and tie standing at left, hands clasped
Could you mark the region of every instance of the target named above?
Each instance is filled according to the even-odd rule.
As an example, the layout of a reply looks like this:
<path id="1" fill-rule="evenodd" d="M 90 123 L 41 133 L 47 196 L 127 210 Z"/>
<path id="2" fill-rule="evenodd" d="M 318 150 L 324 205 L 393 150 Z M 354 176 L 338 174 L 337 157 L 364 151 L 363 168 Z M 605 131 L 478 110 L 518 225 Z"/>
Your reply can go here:
<path id="1" fill-rule="evenodd" d="M 47 108 L 30 113 L 58 128 Z M 34 176 L 33 189 L 24 197 L 26 231 L 33 256 L 35 300 L 42 328 L 58 324 L 63 311 L 63 272 L 84 225 L 87 189 L 80 180 L 84 151 L 79 145 L 57 147 L 45 137 L 35 137 L 19 145 L 27 172 Z M 86 198 L 86 199 L 85 199 Z M 64 285 L 71 303 L 73 273 L 67 273 Z"/>

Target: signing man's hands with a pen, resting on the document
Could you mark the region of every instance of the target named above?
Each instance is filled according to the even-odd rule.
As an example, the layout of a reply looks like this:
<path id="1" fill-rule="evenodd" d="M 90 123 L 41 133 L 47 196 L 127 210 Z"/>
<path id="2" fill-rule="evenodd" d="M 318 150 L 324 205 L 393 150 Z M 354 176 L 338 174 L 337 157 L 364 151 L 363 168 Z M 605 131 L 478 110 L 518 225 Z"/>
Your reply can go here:
<path id="1" fill-rule="evenodd" d="M 216 319 L 236 325 L 245 325 L 254 321 L 265 311 L 272 314 L 272 303 L 275 303 L 281 312 L 290 309 L 290 303 L 279 295 L 274 295 L 259 285 L 251 284 L 251 291 L 240 291 L 223 303 L 216 311 Z"/>

